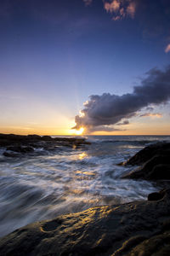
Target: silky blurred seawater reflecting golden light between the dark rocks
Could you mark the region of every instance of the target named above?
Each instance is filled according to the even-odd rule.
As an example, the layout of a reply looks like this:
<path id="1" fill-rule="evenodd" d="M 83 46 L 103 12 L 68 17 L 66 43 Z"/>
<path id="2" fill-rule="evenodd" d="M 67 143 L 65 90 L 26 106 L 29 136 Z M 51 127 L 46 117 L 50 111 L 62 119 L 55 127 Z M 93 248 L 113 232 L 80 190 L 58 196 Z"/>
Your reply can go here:
<path id="1" fill-rule="evenodd" d="M 156 183 L 121 179 L 116 166 L 149 143 L 170 137 L 88 137 L 91 145 L 7 158 L 0 151 L 0 236 L 34 221 L 88 207 L 146 199 Z"/>

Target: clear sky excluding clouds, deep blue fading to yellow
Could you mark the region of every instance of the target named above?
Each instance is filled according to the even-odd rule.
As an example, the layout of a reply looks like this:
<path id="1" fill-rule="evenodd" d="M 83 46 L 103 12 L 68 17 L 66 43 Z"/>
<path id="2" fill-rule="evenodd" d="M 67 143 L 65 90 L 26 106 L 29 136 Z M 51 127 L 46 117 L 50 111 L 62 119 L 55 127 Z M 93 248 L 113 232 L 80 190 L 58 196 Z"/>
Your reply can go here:
<path id="1" fill-rule="evenodd" d="M 2 0 L 0 9 L 2 132 L 69 134 L 88 96 L 131 93 L 169 64 L 168 1 Z"/>

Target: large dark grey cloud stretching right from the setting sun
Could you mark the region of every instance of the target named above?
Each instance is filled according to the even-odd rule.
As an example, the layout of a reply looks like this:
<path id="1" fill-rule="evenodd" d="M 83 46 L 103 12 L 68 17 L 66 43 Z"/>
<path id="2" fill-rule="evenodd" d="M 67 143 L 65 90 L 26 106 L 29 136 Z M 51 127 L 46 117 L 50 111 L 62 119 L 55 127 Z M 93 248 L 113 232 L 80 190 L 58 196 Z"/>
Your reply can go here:
<path id="1" fill-rule="evenodd" d="M 159 105 L 170 100 L 170 66 L 165 70 L 151 69 L 133 93 L 122 96 L 104 93 L 89 96 L 82 114 L 75 117 L 74 129 L 86 127 L 88 131 L 99 131 L 101 125 L 116 125 L 123 119 L 130 119 L 143 108 Z"/>

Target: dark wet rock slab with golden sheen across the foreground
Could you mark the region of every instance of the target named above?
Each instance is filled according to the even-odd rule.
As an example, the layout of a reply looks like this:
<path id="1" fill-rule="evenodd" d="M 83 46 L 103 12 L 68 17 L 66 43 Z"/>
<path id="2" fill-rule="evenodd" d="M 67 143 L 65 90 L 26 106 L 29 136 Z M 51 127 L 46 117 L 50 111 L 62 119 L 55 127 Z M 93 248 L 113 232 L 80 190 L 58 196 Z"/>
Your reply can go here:
<path id="1" fill-rule="evenodd" d="M 170 190 L 29 224 L 0 240 L 0 255 L 170 255 Z"/>

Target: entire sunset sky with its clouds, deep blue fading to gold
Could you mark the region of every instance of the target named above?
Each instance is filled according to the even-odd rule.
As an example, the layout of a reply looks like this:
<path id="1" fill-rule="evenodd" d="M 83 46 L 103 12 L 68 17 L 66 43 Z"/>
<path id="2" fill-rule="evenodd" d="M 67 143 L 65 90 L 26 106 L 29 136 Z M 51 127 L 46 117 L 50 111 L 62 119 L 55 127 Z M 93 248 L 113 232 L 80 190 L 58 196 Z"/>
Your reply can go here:
<path id="1" fill-rule="evenodd" d="M 170 134 L 169 0 L 1 0 L 0 38 L 0 132 Z"/>

